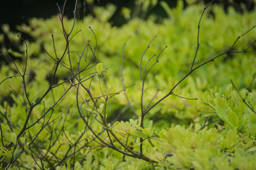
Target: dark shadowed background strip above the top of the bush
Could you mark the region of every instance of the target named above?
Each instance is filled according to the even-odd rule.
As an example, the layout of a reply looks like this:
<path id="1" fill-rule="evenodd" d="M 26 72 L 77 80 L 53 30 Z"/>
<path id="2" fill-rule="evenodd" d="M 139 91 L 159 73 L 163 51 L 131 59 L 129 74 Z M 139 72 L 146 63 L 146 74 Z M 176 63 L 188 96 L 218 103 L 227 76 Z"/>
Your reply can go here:
<path id="1" fill-rule="evenodd" d="M 177 6 L 177 0 L 161 0 L 164 1 L 174 8 Z M 93 8 L 95 6 L 106 6 L 106 4 L 111 3 L 116 6 L 116 11 L 110 18 L 110 22 L 113 25 L 122 25 L 125 23 L 125 17 L 122 15 L 124 8 L 129 8 L 132 10 L 133 17 L 147 18 L 148 16 L 154 14 L 159 17 L 168 17 L 166 13 L 161 8 L 161 1 L 138 1 L 138 0 L 81 0 L 78 1 L 77 11 L 78 18 L 84 18 L 86 15 L 91 15 L 94 13 Z M 149 3 L 148 3 L 149 2 Z M 150 4 L 151 2 L 151 4 Z M 183 0 L 184 8 L 190 4 L 202 3 L 201 0 Z M 204 3 L 209 3 L 209 0 L 204 0 Z M 0 25 L 8 23 L 11 29 L 15 29 L 15 25 L 22 23 L 28 23 L 29 18 L 49 18 L 52 15 L 58 14 L 58 8 L 56 3 L 63 4 L 62 0 L 0 0 Z M 223 9 L 227 10 L 229 6 L 232 6 L 236 11 L 244 12 L 251 11 L 255 8 L 255 0 L 216 0 L 214 3 L 220 4 Z M 74 1 L 67 1 L 67 10 L 65 15 L 72 18 Z M 145 8 L 147 8 L 145 11 Z M 142 10 L 141 10 L 142 9 Z M 144 9 L 144 11 L 143 11 Z"/>

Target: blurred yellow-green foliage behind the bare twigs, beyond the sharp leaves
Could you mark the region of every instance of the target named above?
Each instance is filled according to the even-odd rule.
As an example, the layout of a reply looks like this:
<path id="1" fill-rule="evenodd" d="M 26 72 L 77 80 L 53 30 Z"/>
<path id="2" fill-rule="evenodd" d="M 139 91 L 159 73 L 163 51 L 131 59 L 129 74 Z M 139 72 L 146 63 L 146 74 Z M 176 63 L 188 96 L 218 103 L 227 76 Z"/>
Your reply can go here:
<path id="1" fill-rule="evenodd" d="M 107 80 L 109 87 L 112 88 L 112 92 L 116 92 L 118 89 L 122 89 L 120 57 L 123 53 L 124 43 L 127 41 L 124 50 L 124 83 L 126 86 L 132 85 L 133 83 L 136 84 L 127 89 L 128 97 L 132 100 L 132 105 L 136 111 L 140 110 L 141 82 L 138 69 L 140 57 L 154 36 L 157 36 L 157 38 L 153 41 L 152 46 L 146 53 L 143 64 L 151 56 L 159 53 L 164 46 L 167 45 L 168 48 L 159 57 L 160 62 L 157 63 L 157 66 L 148 74 L 145 87 L 147 89 L 145 92 L 145 103 L 150 102 L 157 90 L 159 92 L 154 101 L 163 97 L 182 76 L 188 73 L 189 64 L 191 64 L 192 57 L 195 55 L 196 29 L 198 19 L 202 13 L 202 6 L 198 5 L 198 2 L 188 1 L 184 3 L 183 1 L 179 1 L 179 3 L 175 4 L 175 8 L 172 8 L 165 1 L 158 2 L 150 0 L 141 3 L 138 0 L 136 1 L 135 8 L 140 9 L 136 15 L 134 15 L 136 12 L 134 8 L 124 7 L 118 12 L 126 20 L 125 24 L 118 27 L 115 24 L 113 25 L 112 20 L 118 6 L 109 3 L 105 7 L 95 6 L 94 3 L 99 2 L 93 1 L 86 1 L 86 3 L 88 3 L 88 6 L 93 6 L 92 12 L 84 19 L 77 20 L 74 32 L 82 31 L 72 39 L 70 49 L 74 52 L 81 53 L 83 46 L 88 40 L 91 40 L 92 44 L 95 43 L 93 41 L 93 34 L 88 29 L 88 26 L 92 27 L 98 43 L 97 60 L 103 62 L 104 66 L 108 68 Z M 189 8 L 185 8 L 188 3 L 191 3 Z M 199 4 L 201 3 L 203 2 Z M 160 6 L 161 11 L 168 17 L 161 17 L 161 20 L 159 20 L 159 16 L 156 14 L 147 14 L 151 8 L 157 5 Z M 229 6 L 225 10 L 223 5 L 212 4 L 211 9 L 206 11 L 200 30 L 201 45 L 195 61 L 196 66 L 214 55 L 228 50 L 237 36 L 240 36 L 255 24 L 255 10 L 247 11 L 245 6 L 242 5 L 242 7 L 245 11 L 239 13 L 233 6 Z M 71 9 L 69 7 L 69 10 Z M 148 15 L 148 17 L 144 16 L 145 18 L 143 18 L 142 15 Z M 66 18 L 65 26 L 70 29 L 72 22 L 72 19 Z M 2 50 L 9 52 L 12 57 L 15 57 L 17 62 L 22 64 L 22 60 L 20 59 L 24 45 L 16 36 L 17 33 L 10 32 L 9 25 L 2 25 L 1 28 L 4 32 L 4 34 L 1 34 Z M 38 95 L 39 87 L 42 87 L 43 90 L 44 86 L 47 85 L 54 67 L 54 62 L 49 57 L 46 57 L 44 50 L 40 46 L 44 46 L 47 52 L 54 56 L 52 34 L 56 43 L 56 51 L 57 53 L 61 52 L 65 45 L 65 41 L 61 40 L 63 38 L 61 25 L 58 17 L 47 19 L 32 18 L 28 21 L 28 24 L 18 25 L 16 29 L 20 31 L 18 34 L 22 34 L 22 37 L 28 39 L 31 60 L 31 65 L 29 66 L 31 76 L 29 76 L 28 81 L 31 81 L 31 88 L 36 87 L 33 83 L 37 82 L 38 88 L 35 89 L 33 95 L 31 93 L 31 96 L 36 96 Z M 235 46 L 236 50 L 243 50 L 246 46 L 250 45 L 255 38 L 255 34 L 256 31 L 253 30 L 244 39 L 239 40 Z M 214 89 L 216 85 L 218 87 L 224 86 L 225 88 L 225 85 L 230 83 L 230 79 L 234 80 L 239 89 L 246 88 L 250 85 L 253 75 L 256 73 L 254 67 L 256 64 L 254 50 L 255 46 L 248 53 L 237 54 L 236 56 L 229 54 L 216 60 L 216 62 L 208 64 L 208 66 L 200 68 L 200 70 L 189 76 L 175 90 L 175 94 L 180 96 L 189 98 L 199 97 L 196 101 L 189 101 L 196 108 L 195 110 L 191 110 L 191 108 L 186 106 L 184 99 L 172 96 L 156 106 L 147 118 L 154 120 L 156 125 L 159 124 L 160 127 L 169 126 L 170 122 L 174 124 L 186 123 L 189 125 L 189 122 L 195 121 L 198 115 L 202 115 L 198 110 L 209 110 L 209 108 L 207 109 L 204 105 L 199 104 L 201 103 L 201 99 L 205 100 L 205 96 L 209 94 L 209 89 Z M 64 59 L 64 62 L 68 62 L 67 58 Z M 73 62 L 76 62 L 76 57 L 73 58 Z M 6 75 L 6 77 L 11 76 L 13 72 L 10 70 L 10 67 L 13 69 L 14 67 L 4 65 L 10 63 L 4 57 L 1 57 L 1 63 L 1 75 Z M 87 72 L 83 74 L 85 75 Z M 68 76 L 70 76 L 68 70 L 60 68 L 57 73 L 58 79 L 56 83 L 60 80 L 65 80 Z M 8 86 L 6 88 L 8 89 Z M 19 84 L 15 83 L 12 88 L 15 90 L 19 89 Z M 98 88 L 97 81 L 95 82 L 94 88 Z M 100 95 L 100 92 L 97 92 L 97 90 L 95 93 L 96 96 Z M 5 88 L 1 90 L 1 98 L 3 99 L 3 97 L 10 99 L 10 92 Z M 127 101 L 124 94 L 120 94 L 113 99 L 113 105 L 109 107 L 109 118 L 111 119 L 111 115 L 115 118 L 119 110 L 125 110 L 125 114 L 120 117 L 120 120 L 129 120 L 132 117 L 131 110 L 127 108 Z"/>

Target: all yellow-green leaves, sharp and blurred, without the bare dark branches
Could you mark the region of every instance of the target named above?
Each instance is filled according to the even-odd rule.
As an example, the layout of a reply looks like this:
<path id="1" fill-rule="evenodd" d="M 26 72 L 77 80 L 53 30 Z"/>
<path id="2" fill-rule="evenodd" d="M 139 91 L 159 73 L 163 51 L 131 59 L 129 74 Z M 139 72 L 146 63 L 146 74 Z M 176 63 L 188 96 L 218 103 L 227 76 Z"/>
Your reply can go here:
<path id="1" fill-rule="evenodd" d="M 77 20 L 73 34 L 78 33 L 70 41 L 70 51 L 74 52 L 71 55 L 72 62 L 76 63 L 76 52 L 83 52 L 84 45 L 89 40 L 92 45 L 96 43 L 92 31 L 88 29 L 89 26 L 92 27 L 97 37 L 96 59 L 104 64 L 103 69 L 108 68 L 107 73 L 104 74 L 108 86 L 108 89 L 104 90 L 108 90 L 108 93 L 123 89 L 120 67 L 124 53 L 125 87 L 135 84 L 125 92 L 136 113 L 140 113 L 140 59 L 154 36 L 157 38 L 152 41 L 145 53 L 142 66 L 145 66 L 150 57 L 161 52 L 164 46 L 167 45 L 168 48 L 160 55 L 159 62 L 147 76 L 145 84 L 147 90 L 143 99 L 145 106 L 150 103 L 157 90 L 159 92 L 152 104 L 167 94 L 173 85 L 189 72 L 195 55 L 198 20 L 202 15 L 203 7 L 191 5 L 183 10 L 182 1 L 179 1 L 175 9 L 169 8 L 164 2 L 161 5 L 169 15 L 169 18 L 163 19 L 161 23 L 157 22 L 155 16 L 150 16 L 147 20 L 133 18 L 122 27 L 113 27 L 108 22 L 115 11 L 115 6 L 109 4 L 106 8 L 94 8 L 96 18 L 88 16 L 84 18 L 84 22 Z M 125 8 L 122 13 L 125 18 L 130 18 L 129 9 Z M 255 25 L 255 16 L 256 11 L 241 14 L 233 8 L 228 8 L 225 13 L 220 6 L 211 6 L 205 11 L 200 25 L 200 48 L 195 66 L 227 51 L 236 41 L 237 36 L 241 36 Z M 70 30 L 72 23 L 73 20 L 65 18 L 65 29 Z M 24 43 L 16 36 L 17 33 L 9 31 L 8 25 L 3 25 L 2 29 L 5 37 L 3 34 L 0 35 L 3 46 L 1 50 L 10 53 L 17 66 L 22 69 L 24 67 L 23 52 L 26 49 Z M 31 36 L 31 40 L 27 40 L 29 53 L 27 88 L 29 99 L 35 102 L 49 86 L 49 78 L 55 66 L 53 60 L 40 46 L 44 46 L 51 56 L 55 56 L 51 34 L 54 36 L 58 55 L 63 52 L 66 42 L 63 41 L 61 23 L 57 16 L 46 20 L 34 18 L 29 21 L 29 25 L 19 25 L 17 29 Z M 246 49 L 255 37 L 256 30 L 252 30 L 239 39 L 235 49 L 237 51 Z M 10 39 L 16 50 L 4 47 L 5 38 Z M 123 48 L 124 45 L 125 48 Z M 63 61 L 68 64 L 68 57 Z M 86 62 L 81 62 L 81 66 L 85 64 Z M 255 46 L 253 46 L 247 53 L 225 55 L 201 67 L 174 91 L 179 96 L 196 97 L 198 100 L 186 100 L 176 96 L 164 99 L 146 115 L 144 129 L 138 126 L 140 118 L 138 119 L 129 108 L 124 92 L 120 92 L 109 101 L 107 113 L 109 122 L 113 123 L 111 128 L 116 132 L 116 136 L 124 143 L 127 139 L 127 145 L 136 151 L 140 150 L 139 138 L 150 138 L 143 142 L 143 152 L 159 163 L 152 164 L 132 157 L 125 157 L 123 161 L 121 153 L 109 148 L 100 148 L 95 141 L 90 143 L 93 134 L 88 131 L 83 136 L 86 140 L 78 143 L 77 147 L 82 147 L 86 143 L 88 145 L 79 150 L 76 157 L 65 159 L 56 169 L 70 169 L 72 166 L 75 169 L 152 169 L 153 166 L 156 169 L 255 169 L 256 114 L 253 113 L 253 110 L 256 111 L 255 82 L 253 81 L 256 73 L 255 66 Z M 17 74 L 12 63 L 2 65 L 0 69 L 1 81 Z M 81 76 L 89 73 L 91 71 L 84 71 Z M 71 74 L 65 67 L 60 67 L 56 76 L 58 78 L 56 83 L 60 83 Z M 234 81 L 238 91 L 232 88 L 230 79 Z M 45 108 L 49 108 L 54 103 L 52 96 L 58 98 L 65 92 L 68 83 L 52 90 L 52 94 L 45 97 L 44 103 L 36 106 L 33 117 L 29 120 L 30 124 L 44 113 Z M 91 88 L 94 96 L 101 95 L 98 80 L 92 81 Z M 75 91 L 76 89 L 70 90 L 58 108 L 54 109 L 51 120 L 57 118 L 58 123 L 50 124 L 40 132 L 33 146 L 29 145 L 31 136 L 38 133 L 43 120 L 29 129 L 31 136 L 24 135 L 19 139 L 20 148 L 24 147 L 25 152 L 16 164 L 29 169 L 38 168 L 35 161 L 40 161 L 38 159 L 40 156 L 34 160 L 31 153 L 45 154 L 45 157 L 51 157 L 51 154 L 56 153 L 56 157 L 51 157 L 50 162 L 44 162 L 45 168 L 51 168 L 58 163 L 58 160 L 65 157 L 69 143 L 74 143 L 85 128 L 74 106 L 76 105 Z M 0 87 L 0 94 L 0 117 L 3 129 L 1 134 L 3 134 L 4 143 L 16 143 L 18 142 L 16 135 L 26 119 L 26 108 L 24 108 L 26 97 L 20 78 L 15 77 L 4 81 Z M 80 95 L 84 98 L 88 97 L 86 92 Z M 253 110 L 246 106 L 242 97 Z M 100 104 L 100 100 L 98 102 Z M 122 120 L 113 122 L 119 113 L 122 113 L 120 116 Z M 49 117 L 50 115 L 46 115 L 46 118 Z M 216 122 L 201 130 L 205 119 Z M 10 122 L 12 128 L 8 125 Z M 60 126 L 62 124 L 63 126 Z M 96 121 L 92 123 L 92 127 L 97 132 L 103 129 Z M 47 151 L 50 142 L 49 129 L 57 132 L 51 134 L 51 140 L 58 139 L 50 152 Z M 102 134 L 102 138 L 109 140 L 105 133 Z M 118 144 L 116 145 L 121 148 Z M 6 150 L 1 146 L 1 162 L 9 162 L 12 155 L 14 157 L 19 155 L 20 148 Z M 18 169 L 15 166 L 13 168 Z"/>

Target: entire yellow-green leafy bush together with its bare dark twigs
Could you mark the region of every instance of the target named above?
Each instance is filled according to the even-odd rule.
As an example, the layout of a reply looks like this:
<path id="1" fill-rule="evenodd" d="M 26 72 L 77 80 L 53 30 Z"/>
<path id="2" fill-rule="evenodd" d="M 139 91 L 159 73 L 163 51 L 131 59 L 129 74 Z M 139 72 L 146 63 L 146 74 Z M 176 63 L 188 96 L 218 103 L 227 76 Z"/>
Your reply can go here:
<path id="1" fill-rule="evenodd" d="M 111 4 L 84 22 L 63 8 L 18 26 L 26 41 L 3 25 L 2 168 L 256 168 L 256 11 L 161 5 L 122 27 Z"/>

